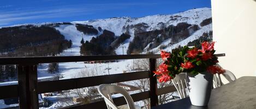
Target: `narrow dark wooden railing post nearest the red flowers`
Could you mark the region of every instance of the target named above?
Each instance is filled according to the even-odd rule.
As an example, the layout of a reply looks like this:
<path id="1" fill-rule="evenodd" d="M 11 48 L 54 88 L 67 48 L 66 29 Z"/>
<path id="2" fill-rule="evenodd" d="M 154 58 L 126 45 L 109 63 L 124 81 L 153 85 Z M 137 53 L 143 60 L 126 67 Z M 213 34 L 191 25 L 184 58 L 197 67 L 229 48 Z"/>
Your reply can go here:
<path id="1" fill-rule="evenodd" d="M 156 59 L 150 59 L 150 106 L 158 105 L 157 97 L 157 76 L 154 76 L 153 71 L 156 70 Z"/>

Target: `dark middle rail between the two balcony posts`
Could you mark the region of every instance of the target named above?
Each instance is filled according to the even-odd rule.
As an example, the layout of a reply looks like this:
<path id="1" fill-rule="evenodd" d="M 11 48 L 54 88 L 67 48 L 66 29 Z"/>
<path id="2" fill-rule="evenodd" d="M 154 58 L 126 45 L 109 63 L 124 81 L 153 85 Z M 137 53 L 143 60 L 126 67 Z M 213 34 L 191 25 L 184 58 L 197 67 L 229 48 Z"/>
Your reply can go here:
<path id="1" fill-rule="evenodd" d="M 117 82 L 132 81 L 149 78 L 149 71 L 121 73 L 112 75 L 91 76 L 56 81 L 38 82 L 38 93 L 56 92 L 68 89 L 112 84 Z"/>

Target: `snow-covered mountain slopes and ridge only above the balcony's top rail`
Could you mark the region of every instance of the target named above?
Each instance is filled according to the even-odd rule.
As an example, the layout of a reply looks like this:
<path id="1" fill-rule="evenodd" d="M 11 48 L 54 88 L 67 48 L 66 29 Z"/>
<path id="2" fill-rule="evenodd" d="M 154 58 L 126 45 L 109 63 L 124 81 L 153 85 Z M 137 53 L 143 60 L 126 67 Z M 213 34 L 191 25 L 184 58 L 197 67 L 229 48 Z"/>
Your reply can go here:
<path id="1" fill-rule="evenodd" d="M 114 18 L 106 18 L 106 19 L 98 19 L 98 20 L 89 20 L 89 21 L 74 21 L 74 22 L 46 22 L 46 23 L 35 23 L 32 25 L 49 25 L 56 28 L 62 35 L 65 36 L 67 40 L 73 41 L 73 48 L 79 50 L 79 46 L 81 46 L 81 39 L 84 38 L 85 41 L 90 41 L 92 37 L 97 37 L 102 34 L 102 30 L 109 30 L 115 33 L 115 36 L 120 36 L 123 33 L 128 33 L 131 37 L 126 41 L 122 42 L 118 47 L 115 47 L 116 54 L 127 54 L 127 50 L 129 48 L 130 42 L 133 41 L 134 37 L 138 33 L 143 33 L 146 31 L 154 31 L 161 30 L 169 27 L 170 25 L 176 26 L 178 23 L 187 23 L 191 25 L 198 25 L 198 30 L 194 31 L 189 37 L 186 39 L 182 39 L 182 41 L 178 41 L 176 43 L 172 43 L 170 45 L 170 41 L 173 39 L 164 39 L 164 41 L 160 41 L 160 44 L 156 46 L 151 46 L 156 39 L 151 39 L 150 42 L 147 42 L 146 46 L 143 46 L 143 51 L 141 53 L 146 52 L 154 52 L 157 53 L 159 48 L 163 46 L 167 46 L 165 50 L 170 50 L 177 46 L 184 46 L 188 42 L 198 39 L 203 33 L 209 33 L 212 31 L 211 23 L 206 26 L 201 26 L 200 23 L 206 20 L 207 18 L 211 18 L 211 9 L 210 8 L 199 8 L 199 9 L 191 9 L 184 12 L 180 12 L 177 14 L 170 15 L 152 15 L 145 16 L 140 18 L 131 18 L 131 17 L 114 17 Z M 77 24 L 84 25 L 92 25 L 94 29 L 98 30 L 98 34 L 85 34 L 81 30 L 78 30 L 76 27 Z M 19 24 L 13 25 L 10 27 L 21 26 L 21 25 L 31 25 L 31 24 Z M 56 26 L 57 25 L 57 26 Z M 99 30 L 102 29 L 102 30 Z M 158 34 L 160 36 L 160 34 Z M 154 38 L 154 37 L 153 37 Z M 80 53 L 76 52 L 69 55 L 80 55 Z"/>

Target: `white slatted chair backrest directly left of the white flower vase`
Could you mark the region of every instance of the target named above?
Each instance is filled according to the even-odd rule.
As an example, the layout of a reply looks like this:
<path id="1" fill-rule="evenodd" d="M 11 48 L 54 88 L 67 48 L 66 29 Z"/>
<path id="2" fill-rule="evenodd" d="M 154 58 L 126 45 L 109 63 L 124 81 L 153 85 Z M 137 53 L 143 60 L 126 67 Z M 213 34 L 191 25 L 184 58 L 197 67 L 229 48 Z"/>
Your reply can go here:
<path id="1" fill-rule="evenodd" d="M 186 98 L 186 87 L 188 87 L 188 81 L 187 81 L 187 73 L 180 73 L 175 76 L 174 79 L 171 80 L 174 84 L 175 88 L 177 89 L 178 94 L 180 95 L 180 98 Z"/>

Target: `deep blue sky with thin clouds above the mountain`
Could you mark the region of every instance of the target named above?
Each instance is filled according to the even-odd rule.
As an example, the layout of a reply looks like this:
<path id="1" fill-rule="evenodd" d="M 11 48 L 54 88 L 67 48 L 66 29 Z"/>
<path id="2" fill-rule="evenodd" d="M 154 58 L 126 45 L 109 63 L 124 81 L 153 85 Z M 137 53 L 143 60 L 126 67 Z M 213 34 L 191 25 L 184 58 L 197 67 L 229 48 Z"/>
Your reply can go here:
<path id="1" fill-rule="evenodd" d="M 0 27 L 41 22 L 86 21 L 110 17 L 175 14 L 211 8 L 210 0 L 5 0 L 0 1 Z"/>

